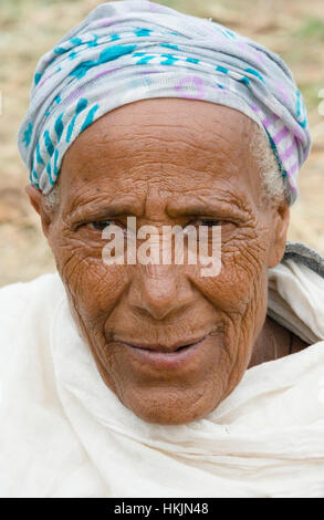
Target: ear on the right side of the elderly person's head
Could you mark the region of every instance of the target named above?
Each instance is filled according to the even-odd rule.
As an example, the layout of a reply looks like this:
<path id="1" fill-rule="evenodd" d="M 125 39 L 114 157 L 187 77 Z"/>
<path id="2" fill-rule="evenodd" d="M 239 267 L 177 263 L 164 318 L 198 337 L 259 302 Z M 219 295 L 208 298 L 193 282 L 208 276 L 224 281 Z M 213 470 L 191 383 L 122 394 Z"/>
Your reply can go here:
<path id="1" fill-rule="evenodd" d="M 269 254 L 269 268 L 274 268 L 284 256 L 286 235 L 290 222 L 290 207 L 284 200 L 274 211 L 273 240 Z"/>

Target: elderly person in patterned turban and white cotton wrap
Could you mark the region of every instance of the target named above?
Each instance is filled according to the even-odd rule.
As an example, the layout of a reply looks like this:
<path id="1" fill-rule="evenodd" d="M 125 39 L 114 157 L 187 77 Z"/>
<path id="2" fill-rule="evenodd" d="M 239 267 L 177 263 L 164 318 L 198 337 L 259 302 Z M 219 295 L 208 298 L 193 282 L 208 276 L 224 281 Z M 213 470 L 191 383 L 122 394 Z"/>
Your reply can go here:
<path id="1" fill-rule="evenodd" d="M 310 133 L 283 61 L 105 3 L 40 61 L 19 147 L 58 273 L 0 291 L 1 495 L 323 496 L 324 262 L 286 243 Z M 129 217 L 221 229 L 220 271 L 105 262 Z"/>

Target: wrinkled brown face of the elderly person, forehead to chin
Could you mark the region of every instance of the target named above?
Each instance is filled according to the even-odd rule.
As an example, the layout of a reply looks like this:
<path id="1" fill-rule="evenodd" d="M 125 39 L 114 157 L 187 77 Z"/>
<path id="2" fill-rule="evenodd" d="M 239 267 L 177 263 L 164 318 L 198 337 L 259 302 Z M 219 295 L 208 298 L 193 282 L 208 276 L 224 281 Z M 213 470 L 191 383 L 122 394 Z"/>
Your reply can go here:
<path id="1" fill-rule="evenodd" d="M 145 420 L 205 416 L 248 367 L 268 269 L 285 241 L 280 211 L 264 201 L 252 132 L 223 106 L 149 100 L 95 122 L 64 157 L 60 207 L 43 215 L 44 229 L 101 376 Z M 102 229 L 125 228 L 129 216 L 137 228 L 221 226 L 221 272 L 105 264 Z"/>

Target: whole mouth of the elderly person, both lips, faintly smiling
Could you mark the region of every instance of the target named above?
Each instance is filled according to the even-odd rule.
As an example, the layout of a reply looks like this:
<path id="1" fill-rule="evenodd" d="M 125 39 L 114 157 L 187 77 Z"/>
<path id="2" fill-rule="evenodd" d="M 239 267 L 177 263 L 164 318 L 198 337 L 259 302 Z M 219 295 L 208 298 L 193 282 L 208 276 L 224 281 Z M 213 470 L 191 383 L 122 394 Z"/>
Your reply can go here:
<path id="1" fill-rule="evenodd" d="M 181 341 L 173 345 L 135 344 L 118 341 L 128 349 L 130 355 L 137 361 L 154 365 L 155 367 L 176 368 L 194 360 L 208 341 L 210 334 L 194 341 Z"/>

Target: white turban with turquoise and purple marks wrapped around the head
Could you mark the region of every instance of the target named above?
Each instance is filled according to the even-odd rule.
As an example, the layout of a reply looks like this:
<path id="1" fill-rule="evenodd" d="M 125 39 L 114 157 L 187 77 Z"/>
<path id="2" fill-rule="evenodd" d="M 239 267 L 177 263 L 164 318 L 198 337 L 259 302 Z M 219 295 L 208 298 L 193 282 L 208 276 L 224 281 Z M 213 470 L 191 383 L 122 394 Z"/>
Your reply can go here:
<path id="1" fill-rule="evenodd" d="M 81 132 L 118 106 L 151 97 L 209 101 L 252 118 L 295 200 L 311 137 L 285 63 L 223 25 L 146 0 L 98 6 L 40 60 L 19 132 L 31 183 L 49 194 Z"/>

